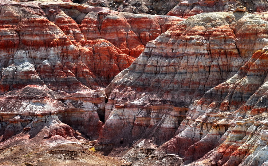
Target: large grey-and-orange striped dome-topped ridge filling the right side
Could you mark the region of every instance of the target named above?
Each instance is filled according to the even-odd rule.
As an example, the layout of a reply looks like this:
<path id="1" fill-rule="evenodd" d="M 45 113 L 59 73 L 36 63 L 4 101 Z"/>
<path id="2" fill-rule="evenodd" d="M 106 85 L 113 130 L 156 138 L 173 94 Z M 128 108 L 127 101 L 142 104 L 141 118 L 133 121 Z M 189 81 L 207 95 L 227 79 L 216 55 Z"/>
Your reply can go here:
<path id="1" fill-rule="evenodd" d="M 136 153 L 136 165 L 169 154 L 190 165 L 266 162 L 266 25 L 242 11 L 203 13 L 148 42 L 106 88 L 99 143 L 165 142 Z"/>

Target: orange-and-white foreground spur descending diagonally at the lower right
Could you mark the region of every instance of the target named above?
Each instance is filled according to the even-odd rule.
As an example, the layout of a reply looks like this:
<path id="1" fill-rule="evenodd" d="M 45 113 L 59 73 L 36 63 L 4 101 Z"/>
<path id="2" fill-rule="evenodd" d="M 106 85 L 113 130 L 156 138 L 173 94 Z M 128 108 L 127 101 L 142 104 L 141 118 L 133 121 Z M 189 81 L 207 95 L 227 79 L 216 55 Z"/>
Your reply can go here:
<path id="1" fill-rule="evenodd" d="M 263 145 L 266 146 L 263 140 L 266 140 L 267 115 L 264 108 L 264 105 L 266 105 L 264 104 L 265 101 L 262 101 L 262 99 L 265 98 L 265 92 L 267 90 L 265 88 L 265 77 L 267 75 L 266 57 L 266 47 L 256 51 L 235 76 L 206 92 L 205 95 L 197 101 L 191 110 L 191 114 L 188 114 L 193 116 L 193 118 L 197 118 L 199 122 L 202 123 L 204 121 L 204 115 L 200 115 L 200 113 L 206 112 L 208 115 L 206 121 L 212 123 L 216 122 L 213 124 L 212 128 L 225 126 L 226 130 L 227 127 L 231 126 L 224 134 L 221 132 L 220 135 L 222 136 L 219 135 L 219 137 L 215 139 L 218 141 L 216 145 L 224 142 L 203 157 L 203 160 L 209 158 L 211 163 L 217 163 L 218 165 L 237 165 L 239 163 L 241 163 L 241 165 L 261 165 L 267 160 L 267 157 L 264 157 L 265 159 L 263 161 L 263 159 L 257 159 L 258 155 L 255 156 L 257 153 L 262 153 Z M 221 89 L 221 93 L 216 92 L 217 89 Z M 222 96 L 214 98 L 215 94 L 222 94 Z M 210 96 L 210 98 L 214 98 L 213 103 L 210 103 L 211 99 L 207 100 L 207 95 Z M 210 104 L 208 104 L 207 101 Z M 210 130 L 210 132 L 211 131 L 212 130 Z M 179 135 L 176 137 L 179 138 Z M 260 138 L 260 135 L 262 135 L 262 138 Z M 203 139 L 206 139 L 206 137 Z M 207 137 L 207 139 L 210 137 L 211 136 Z M 204 141 L 205 140 L 195 140 L 196 143 L 189 149 L 194 149 L 194 147 L 196 149 L 196 146 L 199 145 L 200 147 L 200 144 L 201 147 L 204 146 L 202 145 Z M 200 151 L 197 153 L 200 154 Z M 186 155 L 187 159 L 190 158 L 191 160 L 186 160 L 185 163 L 193 161 L 192 157 L 195 156 L 195 153 L 186 153 Z M 200 157 L 202 157 L 202 155 L 200 155 Z M 200 162 L 207 162 L 202 159 Z"/>

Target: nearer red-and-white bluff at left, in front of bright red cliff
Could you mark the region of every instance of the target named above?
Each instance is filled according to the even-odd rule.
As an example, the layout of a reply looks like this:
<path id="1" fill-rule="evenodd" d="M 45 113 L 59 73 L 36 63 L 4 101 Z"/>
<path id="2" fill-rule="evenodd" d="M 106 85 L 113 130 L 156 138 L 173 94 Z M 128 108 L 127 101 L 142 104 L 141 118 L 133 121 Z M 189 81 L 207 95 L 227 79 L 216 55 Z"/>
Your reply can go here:
<path id="1" fill-rule="evenodd" d="M 77 43 L 76 40 L 84 37 L 73 19 L 64 14 L 67 18 L 63 17 L 65 22 L 63 21 L 64 23 L 60 25 L 60 19 L 56 17 L 54 22 L 57 26 L 44 17 L 47 15 L 40 7 L 19 5 L 1 6 L 2 33 L 7 38 L 1 42 L 12 38 L 10 40 L 12 43 L 1 50 L 1 55 L 3 55 L 0 60 L 1 93 L 22 88 L 28 84 L 47 85 L 55 91 L 65 92 L 96 89 L 107 85 L 114 76 L 104 73 L 103 78 L 99 79 L 101 76 L 94 71 L 94 68 L 103 65 L 105 67 L 101 67 L 102 70 L 115 70 L 116 75 L 134 60 L 121 51 L 111 50 L 113 55 L 103 56 L 113 61 L 89 62 L 94 55 L 98 54 L 93 53 L 92 47 L 82 47 L 80 43 Z M 61 14 L 63 15 L 63 12 Z M 6 20 L 11 16 L 16 18 Z M 112 49 L 112 47 L 114 48 L 111 45 L 106 49 Z M 121 66 L 116 65 L 118 59 L 120 59 Z"/>

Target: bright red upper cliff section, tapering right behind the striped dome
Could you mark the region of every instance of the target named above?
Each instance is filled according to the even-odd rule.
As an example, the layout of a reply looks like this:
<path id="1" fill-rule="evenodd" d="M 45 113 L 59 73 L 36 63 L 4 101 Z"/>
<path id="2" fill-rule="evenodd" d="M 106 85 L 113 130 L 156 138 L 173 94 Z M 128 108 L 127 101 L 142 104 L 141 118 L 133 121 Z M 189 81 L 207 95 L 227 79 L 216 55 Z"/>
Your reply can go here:
<path id="1" fill-rule="evenodd" d="M 148 41 L 182 20 L 179 17 L 100 11 L 88 13 L 80 27 L 86 40 L 103 38 L 125 54 L 137 58 Z"/>

